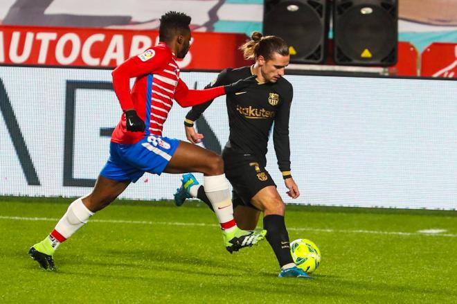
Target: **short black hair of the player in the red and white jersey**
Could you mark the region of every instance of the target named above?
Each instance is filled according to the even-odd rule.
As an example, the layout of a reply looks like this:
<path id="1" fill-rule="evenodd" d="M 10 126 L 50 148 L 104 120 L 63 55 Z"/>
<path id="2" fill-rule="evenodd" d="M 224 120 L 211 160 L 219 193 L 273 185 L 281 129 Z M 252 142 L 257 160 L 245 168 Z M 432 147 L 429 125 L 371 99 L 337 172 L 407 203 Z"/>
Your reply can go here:
<path id="1" fill-rule="evenodd" d="M 174 35 L 190 30 L 190 20 L 183 12 L 166 12 L 160 17 L 159 40 L 169 42 Z"/>

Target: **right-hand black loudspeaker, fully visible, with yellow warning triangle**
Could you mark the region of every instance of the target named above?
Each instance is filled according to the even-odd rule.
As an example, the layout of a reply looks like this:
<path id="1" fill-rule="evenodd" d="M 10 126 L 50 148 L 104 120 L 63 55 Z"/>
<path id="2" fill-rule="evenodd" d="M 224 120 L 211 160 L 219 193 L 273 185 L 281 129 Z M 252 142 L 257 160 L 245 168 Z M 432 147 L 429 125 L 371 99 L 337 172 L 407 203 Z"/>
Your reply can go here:
<path id="1" fill-rule="evenodd" d="M 334 0 L 333 59 L 336 64 L 397 63 L 398 0 Z"/>

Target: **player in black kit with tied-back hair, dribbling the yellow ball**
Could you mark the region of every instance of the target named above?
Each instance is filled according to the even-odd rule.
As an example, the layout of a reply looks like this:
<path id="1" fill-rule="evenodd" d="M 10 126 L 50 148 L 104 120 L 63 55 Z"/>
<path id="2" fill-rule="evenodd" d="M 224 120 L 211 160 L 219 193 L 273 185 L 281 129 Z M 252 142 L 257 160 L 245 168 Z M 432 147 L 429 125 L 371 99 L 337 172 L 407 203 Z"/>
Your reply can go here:
<path id="1" fill-rule="evenodd" d="M 224 172 L 233 186 L 234 217 L 241 229 L 253 230 L 263 212 L 267 240 L 280 265 L 279 276 L 310 278 L 292 259 L 284 221 L 285 204 L 265 170 L 269 132 L 274 124 L 274 148 L 285 186 L 289 189 L 287 195 L 293 199 L 300 195 L 290 171 L 289 114 L 293 89 L 282 77 L 289 64 L 289 48 L 280 37 L 262 37 L 261 33 L 254 32 L 251 40 L 240 49 L 246 59 L 256 60 L 255 64 L 225 69 L 206 87 L 257 75 L 257 83 L 226 96 L 230 136 L 222 157 Z M 186 136 L 191 143 L 199 143 L 203 138 L 203 134 L 195 132 L 193 123 L 211 102 L 192 107 L 186 115 Z M 188 197 L 198 197 L 211 207 L 204 186 L 190 174 L 183 175 L 174 202 L 181 206 Z"/>

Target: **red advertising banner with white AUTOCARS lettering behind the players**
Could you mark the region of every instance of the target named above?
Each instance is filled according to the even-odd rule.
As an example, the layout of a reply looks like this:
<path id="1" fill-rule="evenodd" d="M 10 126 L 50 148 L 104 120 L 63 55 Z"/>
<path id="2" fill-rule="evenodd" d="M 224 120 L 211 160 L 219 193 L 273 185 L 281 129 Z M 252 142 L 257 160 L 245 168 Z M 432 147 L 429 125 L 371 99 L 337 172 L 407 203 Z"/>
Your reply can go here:
<path id="1" fill-rule="evenodd" d="M 181 69 L 221 70 L 249 64 L 244 34 L 192 33 Z M 157 30 L 0 26 L 0 64 L 114 67 L 159 41 Z"/>

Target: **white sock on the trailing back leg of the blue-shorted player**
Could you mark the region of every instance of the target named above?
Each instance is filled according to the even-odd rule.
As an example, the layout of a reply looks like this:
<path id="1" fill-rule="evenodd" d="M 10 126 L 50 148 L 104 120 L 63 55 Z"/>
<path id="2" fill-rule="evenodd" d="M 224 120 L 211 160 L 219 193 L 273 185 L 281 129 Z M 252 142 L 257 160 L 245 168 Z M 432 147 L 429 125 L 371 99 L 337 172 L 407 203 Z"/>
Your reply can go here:
<path id="1" fill-rule="evenodd" d="M 93 212 L 84 206 L 80 197 L 70 204 L 64 216 L 55 225 L 55 231 L 60 233 L 65 239 L 70 238 L 73 233 L 89 221 L 89 217 L 93 214 Z"/>

